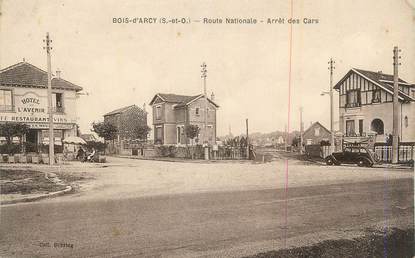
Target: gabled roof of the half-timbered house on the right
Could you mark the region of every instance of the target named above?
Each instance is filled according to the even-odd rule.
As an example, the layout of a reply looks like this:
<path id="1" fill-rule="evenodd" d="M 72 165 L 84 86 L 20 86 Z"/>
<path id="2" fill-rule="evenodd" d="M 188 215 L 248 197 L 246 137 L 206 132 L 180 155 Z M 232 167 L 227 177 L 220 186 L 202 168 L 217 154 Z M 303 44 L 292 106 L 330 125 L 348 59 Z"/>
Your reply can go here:
<path id="1" fill-rule="evenodd" d="M 333 88 L 339 89 L 340 85 L 343 81 L 349 77 L 349 75 L 354 72 L 358 75 L 366 78 L 367 80 L 371 81 L 375 85 L 379 86 L 380 88 L 386 90 L 390 94 L 393 95 L 393 75 L 384 74 L 380 72 L 372 72 L 362 69 L 352 68 Z M 410 84 L 402 79 L 399 78 L 399 84 L 408 85 L 409 87 L 415 87 L 414 84 Z M 404 93 L 403 91 L 399 90 L 399 98 L 404 101 L 414 101 L 415 99 L 409 96 L 408 94 Z"/>

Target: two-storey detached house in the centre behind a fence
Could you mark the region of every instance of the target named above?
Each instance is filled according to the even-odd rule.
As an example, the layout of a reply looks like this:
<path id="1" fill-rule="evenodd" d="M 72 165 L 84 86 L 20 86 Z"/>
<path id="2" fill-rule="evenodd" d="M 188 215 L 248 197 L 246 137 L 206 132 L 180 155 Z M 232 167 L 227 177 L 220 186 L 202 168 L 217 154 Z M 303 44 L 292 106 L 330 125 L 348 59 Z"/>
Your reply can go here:
<path id="1" fill-rule="evenodd" d="M 212 94 L 208 100 L 207 128 L 205 128 L 205 105 L 203 94 L 183 96 L 175 94 L 156 94 L 150 102 L 153 108 L 154 143 L 186 144 L 191 143 L 186 137 L 185 127 L 189 124 L 200 128 L 196 143 L 216 143 L 216 110 Z"/>

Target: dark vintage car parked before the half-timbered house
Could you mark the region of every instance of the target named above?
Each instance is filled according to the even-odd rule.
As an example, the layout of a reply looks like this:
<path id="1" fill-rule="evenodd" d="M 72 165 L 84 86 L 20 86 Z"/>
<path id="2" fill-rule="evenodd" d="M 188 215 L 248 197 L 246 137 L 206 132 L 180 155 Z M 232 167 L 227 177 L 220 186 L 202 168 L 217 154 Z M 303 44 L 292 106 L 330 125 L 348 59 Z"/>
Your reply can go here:
<path id="1" fill-rule="evenodd" d="M 345 147 L 341 152 L 333 152 L 325 160 L 327 165 L 347 163 L 359 167 L 372 167 L 378 162 L 376 154 L 365 147 Z"/>

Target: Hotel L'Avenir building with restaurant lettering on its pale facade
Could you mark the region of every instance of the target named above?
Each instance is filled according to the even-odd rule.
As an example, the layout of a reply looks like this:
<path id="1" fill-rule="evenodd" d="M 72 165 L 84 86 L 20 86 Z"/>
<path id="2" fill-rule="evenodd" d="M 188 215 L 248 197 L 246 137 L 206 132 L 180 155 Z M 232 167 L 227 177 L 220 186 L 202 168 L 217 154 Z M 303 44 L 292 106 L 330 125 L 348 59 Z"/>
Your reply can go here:
<path id="1" fill-rule="evenodd" d="M 48 74 L 25 61 L 0 70 L 0 123 L 29 126 L 24 137 L 27 152 L 49 143 Z M 60 77 L 52 78 L 52 111 L 55 144 L 77 135 L 76 100 L 82 88 Z M 59 152 L 59 148 L 58 148 Z"/>

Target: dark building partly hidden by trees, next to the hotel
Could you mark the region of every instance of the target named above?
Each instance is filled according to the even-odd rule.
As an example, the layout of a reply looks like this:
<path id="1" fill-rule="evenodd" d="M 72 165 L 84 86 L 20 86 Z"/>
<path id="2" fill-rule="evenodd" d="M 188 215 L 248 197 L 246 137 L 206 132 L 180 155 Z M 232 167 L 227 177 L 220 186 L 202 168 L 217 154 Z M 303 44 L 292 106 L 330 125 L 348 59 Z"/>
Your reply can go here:
<path id="1" fill-rule="evenodd" d="M 123 153 L 125 142 L 129 143 L 132 140 L 137 140 L 134 133 L 135 128 L 139 125 L 147 126 L 147 112 L 144 107 L 140 108 L 136 105 L 130 105 L 106 113 L 104 122 L 109 122 L 117 128 L 116 139 L 109 146 L 110 152 Z M 115 145 L 112 146 L 112 144 Z M 113 150 L 111 151 L 111 149 Z"/>

